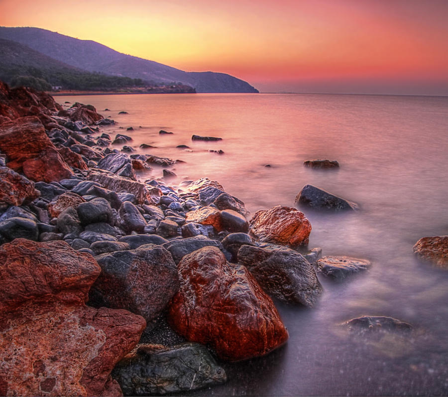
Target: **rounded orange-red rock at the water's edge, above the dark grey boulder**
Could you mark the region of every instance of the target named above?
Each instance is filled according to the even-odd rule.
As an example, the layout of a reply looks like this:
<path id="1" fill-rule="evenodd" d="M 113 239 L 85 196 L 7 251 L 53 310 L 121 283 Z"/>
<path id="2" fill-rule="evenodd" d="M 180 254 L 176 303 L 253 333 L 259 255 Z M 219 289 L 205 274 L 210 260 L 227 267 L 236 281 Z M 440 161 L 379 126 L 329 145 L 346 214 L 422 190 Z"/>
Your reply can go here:
<path id="1" fill-rule="evenodd" d="M 249 234 L 263 243 L 307 245 L 310 233 L 311 223 L 302 212 L 291 207 L 277 205 L 260 210 L 250 220 Z"/>

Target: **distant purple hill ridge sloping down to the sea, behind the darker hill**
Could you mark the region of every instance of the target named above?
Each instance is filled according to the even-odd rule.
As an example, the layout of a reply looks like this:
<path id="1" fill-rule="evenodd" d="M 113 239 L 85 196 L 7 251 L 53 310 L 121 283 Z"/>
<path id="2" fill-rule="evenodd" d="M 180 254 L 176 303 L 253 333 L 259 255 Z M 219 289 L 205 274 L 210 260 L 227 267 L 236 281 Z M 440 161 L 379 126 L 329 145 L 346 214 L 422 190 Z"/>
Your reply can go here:
<path id="1" fill-rule="evenodd" d="M 57 61 L 90 72 L 143 79 L 155 83 L 180 82 L 197 92 L 258 92 L 243 80 L 223 73 L 185 72 L 158 62 L 119 53 L 91 40 L 35 27 L 0 27 L 0 38 L 24 44 Z"/>

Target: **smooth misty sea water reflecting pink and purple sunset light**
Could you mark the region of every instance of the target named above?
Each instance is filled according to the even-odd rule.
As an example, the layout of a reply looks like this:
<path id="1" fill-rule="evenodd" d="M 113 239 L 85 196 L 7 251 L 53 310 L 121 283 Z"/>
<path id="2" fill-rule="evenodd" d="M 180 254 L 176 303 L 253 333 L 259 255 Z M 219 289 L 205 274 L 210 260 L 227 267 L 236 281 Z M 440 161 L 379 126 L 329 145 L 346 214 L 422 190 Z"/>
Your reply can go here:
<path id="1" fill-rule="evenodd" d="M 208 176 L 251 212 L 294 206 L 308 183 L 360 204 L 355 213 L 302 210 L 313 227 L 310 248 L 369 259 L 371 270 L 339 283 L 320 276 L 325 292 L 314 309 L 278 304 L 290 334 L 287 345 L 264 358 L 225 365 L 228 382 L 195 395 L 448 394 L 448 271 L 421 264 L 412 254 L 421 237 L 448 235 L 448 98 L 196 94 L 56 99 L 90 103 L 111 115 L 119 124 L 105 131 L 131 135 L 137 152 L 186 161 L 173 168 L 179 178 L 171 185 Z M 133 132 L 125 130 L 130 126 Z M 174 134 L 159 135 L 160 129 Z M 223 140 L 193 142 L 193 133 Z M 157 148 L 141 150 L 140 143 Z M 303 161 L 312 158 L 336 159 L 340 169 L 305 168 Z M 162 168 L 150 175 L 161 177 Z M 412 337 L 360 340 L 338 325 L 360 315 L 392 316 L 410 322 L 415 331 Z"/>

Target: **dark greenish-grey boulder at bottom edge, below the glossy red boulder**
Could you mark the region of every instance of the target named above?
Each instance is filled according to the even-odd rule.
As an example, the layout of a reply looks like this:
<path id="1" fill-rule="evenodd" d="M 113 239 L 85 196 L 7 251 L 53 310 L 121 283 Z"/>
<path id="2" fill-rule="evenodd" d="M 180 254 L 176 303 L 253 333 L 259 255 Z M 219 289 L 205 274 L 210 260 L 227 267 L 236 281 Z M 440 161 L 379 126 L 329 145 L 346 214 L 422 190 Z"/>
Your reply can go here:
<path id="1" fill-rule="evenodd" d="M 199 343 L 137 345 L 112 376 L 126 396 L 188 392 L 226 381 L 224 369 Z"/>

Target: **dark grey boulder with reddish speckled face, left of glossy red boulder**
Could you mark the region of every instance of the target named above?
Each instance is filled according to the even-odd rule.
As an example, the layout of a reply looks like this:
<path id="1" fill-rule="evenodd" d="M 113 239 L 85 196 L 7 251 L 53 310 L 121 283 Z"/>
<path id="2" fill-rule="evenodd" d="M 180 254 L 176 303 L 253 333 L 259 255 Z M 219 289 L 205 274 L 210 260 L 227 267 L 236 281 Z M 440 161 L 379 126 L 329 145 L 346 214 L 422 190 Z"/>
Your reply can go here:
<path id="1" fill-rule="evenodd" d="M 161 246 L 115 251 L 96 260 L 102 272 L 91 298 L 139 314 L 146 321 L 156 318 L 178 290 L 177 267 Z"/>

